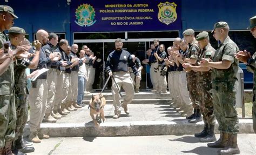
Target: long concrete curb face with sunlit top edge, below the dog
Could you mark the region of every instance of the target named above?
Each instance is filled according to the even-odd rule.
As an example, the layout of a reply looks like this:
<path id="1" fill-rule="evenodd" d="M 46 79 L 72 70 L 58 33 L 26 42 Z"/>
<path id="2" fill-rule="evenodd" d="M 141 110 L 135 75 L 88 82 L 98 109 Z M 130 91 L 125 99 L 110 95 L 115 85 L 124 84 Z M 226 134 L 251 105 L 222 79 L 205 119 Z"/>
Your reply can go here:
<path id="1" fill-rule="evenodd" d="M 218 124 L 215 133 L 219 133 Z M 187 120 L 173 121 L 136 121 L 136 122 L 109 122 L 100 124 L 97 129 L 94 124 L 83 123 L 44 123 L 41 125 L 43 133 L 50 137 L 83 137 L 83 136 L 153 136 L 153 135 L 181 135 L 200 132 L 203 122 L 188 123 Z M 239 133 L 254 133 L 252 119 L 239 119 Z M 24 129 L 24 136 L 29 135 L 29 126 Z"/>

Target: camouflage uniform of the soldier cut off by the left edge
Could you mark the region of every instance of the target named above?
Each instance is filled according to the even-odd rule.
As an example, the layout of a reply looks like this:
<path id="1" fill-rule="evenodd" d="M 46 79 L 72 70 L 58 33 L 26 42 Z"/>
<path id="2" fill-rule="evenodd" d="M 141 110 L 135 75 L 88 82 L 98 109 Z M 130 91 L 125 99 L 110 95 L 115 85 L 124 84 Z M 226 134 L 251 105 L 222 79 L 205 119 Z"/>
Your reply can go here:
<path id="1" fill-rule="evenodd" d="M 4 32 L 0 32 L 0 48 L 2 42 L 9 41 Z M 10 63 L 8 69 L 0 76 L 0 147 L 5 146 L 6 141 L 15 138 L 16 111 L 14 99 L 14 63 Z"/>

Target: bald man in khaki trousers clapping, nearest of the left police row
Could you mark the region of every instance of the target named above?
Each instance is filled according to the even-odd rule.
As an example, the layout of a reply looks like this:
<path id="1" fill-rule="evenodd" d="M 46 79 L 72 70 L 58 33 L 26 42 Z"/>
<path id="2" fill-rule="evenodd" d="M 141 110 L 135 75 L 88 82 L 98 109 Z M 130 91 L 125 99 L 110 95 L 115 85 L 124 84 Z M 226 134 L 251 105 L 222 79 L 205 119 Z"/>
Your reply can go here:
<path id="1" fill-rule="evenodd" d="M 48 42 L 48 32 L 45 30 L 38 30 L 36 33 L 37 40 L 43 45 L 46 45 Z M 33 48 L 30 50 L 30 53 L 33 53 Z M 47 68 L 46 63 L 53 61 L 55 58 L 55 54 L 51 53 L 49 57 L 46 57 L 45 51 L 41 48 L 39 54 L 39 62 L 38 66 L 35 70 Z M 33 57 L 31 57 L 32 60 Z M 30 72 L 32 73 L 35 71 L 31 69 Z M 32 82 L 32 87 L 29 91 L 29 105 L 30 105 L 30 135 L 29 140 L 33 143 L 41 143 L 40 139 L 49 138 L 48 135 L 43 134 L 40 131 L 40 124 L 44 118 L 45 107 L 47 102 L 48 96 L 48 85 L 47 85 L 47 73 L 44 72 L 42 75 L 38 76 L 38 78 Z"/>

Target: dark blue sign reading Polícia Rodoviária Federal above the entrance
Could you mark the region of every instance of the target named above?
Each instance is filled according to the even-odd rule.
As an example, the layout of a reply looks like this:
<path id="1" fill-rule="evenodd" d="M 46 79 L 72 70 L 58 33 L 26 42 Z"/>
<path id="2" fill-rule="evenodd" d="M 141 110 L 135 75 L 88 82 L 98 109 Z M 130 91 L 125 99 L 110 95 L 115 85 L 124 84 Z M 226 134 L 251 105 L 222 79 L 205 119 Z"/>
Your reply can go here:
<path id="1" fill-rule="evenodd" d="M 175 1 L 72 1 L 72 32 L 163 31 L 181 29 Z"/>

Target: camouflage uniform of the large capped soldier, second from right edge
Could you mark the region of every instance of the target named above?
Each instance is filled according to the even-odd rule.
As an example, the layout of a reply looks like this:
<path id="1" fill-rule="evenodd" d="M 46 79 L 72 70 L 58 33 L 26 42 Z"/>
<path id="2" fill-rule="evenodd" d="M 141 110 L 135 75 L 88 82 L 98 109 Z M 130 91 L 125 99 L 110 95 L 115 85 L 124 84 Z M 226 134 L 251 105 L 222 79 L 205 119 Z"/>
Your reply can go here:
<path id="1" fill-rule="evenodd" d="M 238 60 L 234 53 L 239 50 L 230 37 L 219 46 L 212 59 L 213 62 L 228 60 L 232 64 L 228 69 L 212 69 L 212 96 L 215 117 L 219 131 L 236 134 L 239 132 L 237 111 L 235 110 L 234 84 L 237 79 Z"/>

